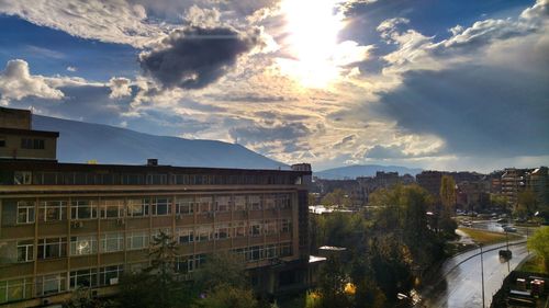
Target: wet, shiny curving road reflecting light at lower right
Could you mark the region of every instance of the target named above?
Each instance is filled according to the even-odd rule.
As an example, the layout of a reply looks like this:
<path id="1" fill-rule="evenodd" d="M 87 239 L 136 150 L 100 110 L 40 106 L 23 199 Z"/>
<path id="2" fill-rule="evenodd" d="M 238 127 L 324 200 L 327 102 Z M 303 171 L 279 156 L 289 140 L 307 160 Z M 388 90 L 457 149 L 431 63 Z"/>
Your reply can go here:
<path id="1" fill-rule="evenodd" d="M 485 249 L 498 246 L 502 244 Z M 513 251 L 513 259 L 508 269 L 513 271 L 528 252 L 525 243 L 511 246 L 509 250 Z M 437 282 L 421 292 L 423 300 L 416 307 L 482 307 L 481 258 L 480 254 L 474 255 L 479 252 L 469 251 L 446 261 L 435 275 Z M 483 259 L 485 307 L 490 307 L 492 295 L 500 289 L 509 270 L 507 263 L 500 260 L 498 249 L 484 252 Z"/>

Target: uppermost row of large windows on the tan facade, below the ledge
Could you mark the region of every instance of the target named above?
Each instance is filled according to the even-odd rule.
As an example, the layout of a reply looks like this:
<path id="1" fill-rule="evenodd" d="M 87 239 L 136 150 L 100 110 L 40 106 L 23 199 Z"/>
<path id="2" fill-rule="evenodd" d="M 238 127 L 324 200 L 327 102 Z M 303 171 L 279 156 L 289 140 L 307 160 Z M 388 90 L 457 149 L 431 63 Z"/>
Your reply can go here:
<path id="1" fill-rule="evenodd" d="M 172 198 L 152 197 L 134 199 L 80 199 L 70 202 L 71 219 L 93 218 L 122 218 L 142 216 L 163 216 L 172 214 Z M 277 195 L 236 195 L 236 196 L 199 196 L 178 197 L 175 201 L 175 210 L 178 215 L 192 215 L 194 213 L 221 213 L 229 210 L 261 210 L 290 208 L 288 194 Z M 18 202 L 18 224 L 32 224 L 35 220 L 35 206 L 33 201 Z M 55 221 L 67 219 L 68 202 L 42 201 L 38 202 L 38 220 Z"/>

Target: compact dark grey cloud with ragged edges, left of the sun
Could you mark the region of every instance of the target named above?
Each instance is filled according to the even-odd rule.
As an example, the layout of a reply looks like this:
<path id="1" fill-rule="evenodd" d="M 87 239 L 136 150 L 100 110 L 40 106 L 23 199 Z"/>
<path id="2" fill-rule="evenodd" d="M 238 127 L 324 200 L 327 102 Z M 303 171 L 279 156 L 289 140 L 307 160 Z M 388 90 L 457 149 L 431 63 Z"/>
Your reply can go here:
<path id="1" fill-rule="evenodd" d="M 258 31 L 242 34 L 229 27 L 188 27 L 173 31 L 161 48 L 142 53 L 139 62 L 145 73 L 166 88 L 201 89 L 258 43 Z"/>

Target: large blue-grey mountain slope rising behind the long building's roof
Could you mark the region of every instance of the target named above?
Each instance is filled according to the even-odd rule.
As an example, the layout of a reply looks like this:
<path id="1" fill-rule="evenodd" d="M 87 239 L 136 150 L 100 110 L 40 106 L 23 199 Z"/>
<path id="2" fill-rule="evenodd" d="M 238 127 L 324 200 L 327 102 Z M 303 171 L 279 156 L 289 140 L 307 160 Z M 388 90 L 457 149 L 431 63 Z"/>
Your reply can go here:
<path id="1" fill-rule="evenodd" d="M 60 162 L 159 164 L 242 169 L 288 169 L 247 148 L 214 140 L 154 136 L 130 129 L 33 115 L 33 129 L 59 132 L 57 159 Z"/>

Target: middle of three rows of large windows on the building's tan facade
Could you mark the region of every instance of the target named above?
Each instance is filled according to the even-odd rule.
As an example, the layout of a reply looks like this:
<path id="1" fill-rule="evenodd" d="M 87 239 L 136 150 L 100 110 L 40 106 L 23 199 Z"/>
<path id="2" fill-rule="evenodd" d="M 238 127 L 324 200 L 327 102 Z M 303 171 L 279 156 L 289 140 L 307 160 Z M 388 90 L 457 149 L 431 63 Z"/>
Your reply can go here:
<path id="1" fill-rule="evenodd" d="M 239 238 L 261 235 L 277 235 L 291 232 L 292 223 L 290 219 L 266 219 L 247 221 L 233 221 L 219 225 L 200 225 L 194 228 L 177 228 L 176 239 L 179 243 L 204 242 L 228 238 Z M 164 230 L 171 233 L 169 229 Z M 138 250 L 148 248 L 153 238 L 148 230 L 127 232 L 109 232 L 100 237 L 98 246 L 97 235 L 81 235 L 70 237 L 68 248 L 70 255 L 86 255 L 101 252 L 116 252 L 126 250 Z M 36 259 L 54 259 L 67 255 L 67 238 L 42 238 L 36 247 Z M 30 262 L 35 258 L 33 240 L 20 240 L 16 242 L 18 262 Z"/>

